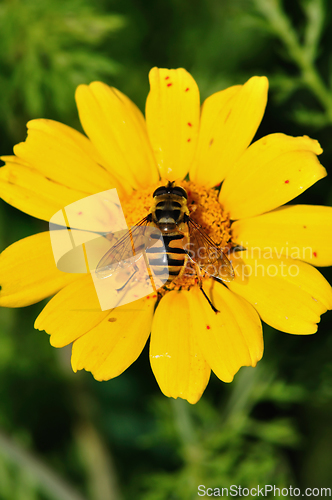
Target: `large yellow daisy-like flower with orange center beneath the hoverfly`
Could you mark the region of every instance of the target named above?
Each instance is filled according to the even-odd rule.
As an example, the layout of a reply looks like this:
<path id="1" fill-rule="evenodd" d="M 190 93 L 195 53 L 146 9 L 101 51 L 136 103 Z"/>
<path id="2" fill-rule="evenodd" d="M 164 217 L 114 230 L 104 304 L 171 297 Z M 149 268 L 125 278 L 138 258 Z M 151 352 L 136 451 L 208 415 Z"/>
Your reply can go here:
<path id="1" fill-rule="evenodd" d="M 148 213 L 160 178 L 177 180 L 209 234 L 229 249 L 242 248 L 232 256 L 236 279 L 227 287 L 204 279 L 220 313 L 194 283 L 164 291 L 158 304 L 149 296 L 102 312 L 90 275 L 56 268 L 48 232 L 2 253 L 0 305 L 25 306 L 55 294 L 35 326 L 55 347 L 73 342 L 73 370 L 89 370 L 97 380 L 128 368 L 151 332 L 161 390 L 195 403 L 211 369 L 230 382 L 241 366 L 256 365 L 261 320 L 288 333 L 316 332 L 320 315 L 332 308 L 331 287 L 313 267 L 332 264 L 332 208 L 281 207 L 326 171 L 317 160 L 319 144 L 308 137 L 272 134 L 250 145 L 266 106 L 265 77 L 213 94 L 201 110 L 185 70 L 154 68 L 150 84 L 146 121 L 125 95 L 94 82 L 76 94 L 88 138 L 51 120 L 29 122 L 27 140 L 4 158 L 0 193 L 49 221 L 76 200 L 116 188 L 135 223 Z M 181 181 L 188 173 L 190 181 Z M 222 181 L 219 193 L 214 186 Z"/>

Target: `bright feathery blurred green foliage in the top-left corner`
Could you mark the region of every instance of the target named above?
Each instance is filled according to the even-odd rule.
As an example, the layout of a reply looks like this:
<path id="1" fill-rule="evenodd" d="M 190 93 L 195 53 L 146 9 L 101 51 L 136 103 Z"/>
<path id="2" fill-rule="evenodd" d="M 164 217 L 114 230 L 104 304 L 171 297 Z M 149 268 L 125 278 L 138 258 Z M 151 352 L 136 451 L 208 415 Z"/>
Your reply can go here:
<path id="1" fill-rule="evenodd" d="M 14 136 L 27 117 L 70 119 L 77 85 L 119 71 L 98 49 L 124 17 L 87 0 L 6 0 L 0 23 L 0 119 Z"/>

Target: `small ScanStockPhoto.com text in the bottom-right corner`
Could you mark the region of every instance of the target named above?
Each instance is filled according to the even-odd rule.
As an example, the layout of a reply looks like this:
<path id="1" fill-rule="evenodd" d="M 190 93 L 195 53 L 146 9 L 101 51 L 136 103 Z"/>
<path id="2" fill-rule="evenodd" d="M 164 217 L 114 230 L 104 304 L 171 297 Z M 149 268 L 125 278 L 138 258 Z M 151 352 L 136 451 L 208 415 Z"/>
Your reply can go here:
<path id="1" fill-rule="evenodd" d="M 211 488 L 204 484 L 198 486 L 197 495 L 200 497 L 330 497 L 331 488 L 294 488 L 277 487 L 272 484 L 257 485 L 246 488 L 241 485 L 232 484 L 227 488 Z"/>

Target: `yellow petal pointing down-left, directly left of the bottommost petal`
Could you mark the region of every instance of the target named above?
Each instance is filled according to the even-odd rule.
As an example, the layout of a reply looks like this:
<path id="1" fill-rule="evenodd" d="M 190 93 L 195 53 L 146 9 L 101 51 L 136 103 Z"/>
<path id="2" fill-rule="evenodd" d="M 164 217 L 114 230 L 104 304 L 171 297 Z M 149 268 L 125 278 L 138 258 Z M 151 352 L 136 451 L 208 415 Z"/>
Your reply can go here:
<path id="1" fill-rule="evenodd" d="M 109 312 L 96 327 L 73 344 L 72 367 L 109 380 L 126 370 L 141 354 L 149 337 L 155 300 L 143 298 Z"/>

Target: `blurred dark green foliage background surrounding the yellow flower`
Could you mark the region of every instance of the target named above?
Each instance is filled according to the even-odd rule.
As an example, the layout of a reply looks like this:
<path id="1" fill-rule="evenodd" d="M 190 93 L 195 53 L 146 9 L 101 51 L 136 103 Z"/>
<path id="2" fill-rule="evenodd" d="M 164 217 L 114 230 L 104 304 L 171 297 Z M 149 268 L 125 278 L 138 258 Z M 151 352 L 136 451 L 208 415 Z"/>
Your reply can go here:
<path id="1" fill-rule="evenodd" d="M 2 0 L 0 145 L 28 119 L 78 128 L 74 89 L 100 79 L 144 109 L 152 66 L 188 69 L 202 99 L 265 74 L 258 137 L 310 135 L 330 170 L 328 0 Z M 319 182 L 300 203 L 332 204 Z M 47 229 L 1 203 L 5 248 Z M 332 282 L 330 270 L 322 272 Z M 195 406 L 161 395 L 147 348 L 121 377 L 74 375 L 70 350 L 33 329 L 43 304 L 0 311 L 0 499 L 186 500 L 197 487 L 331 487 L 331 313 L 315 336 L 265 326 L 265 355 Z M 285 497 L 286 498 L 286 497 Z"/>

